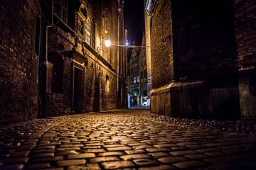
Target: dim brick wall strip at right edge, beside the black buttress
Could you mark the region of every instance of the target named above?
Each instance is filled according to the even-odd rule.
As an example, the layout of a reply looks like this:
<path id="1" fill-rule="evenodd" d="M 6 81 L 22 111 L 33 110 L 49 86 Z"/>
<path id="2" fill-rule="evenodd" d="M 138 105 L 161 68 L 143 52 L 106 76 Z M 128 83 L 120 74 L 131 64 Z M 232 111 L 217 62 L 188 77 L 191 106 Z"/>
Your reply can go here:
<path id="1" fill-rule="evenodd" d="M 241 113 L 256 118 L 256 3 L 236 0 L 234 10 Z"/>

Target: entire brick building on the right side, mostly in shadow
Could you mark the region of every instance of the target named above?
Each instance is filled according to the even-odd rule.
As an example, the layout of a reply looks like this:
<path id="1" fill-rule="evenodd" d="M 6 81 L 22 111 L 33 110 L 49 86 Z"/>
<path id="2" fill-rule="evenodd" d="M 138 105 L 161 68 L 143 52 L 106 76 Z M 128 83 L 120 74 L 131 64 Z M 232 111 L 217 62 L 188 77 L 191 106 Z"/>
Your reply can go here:
<path id="1" fill-rule="evenodd" d="M 151 112 L 255 118 L 255 1 L 145 1 Z"/>

